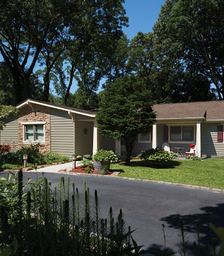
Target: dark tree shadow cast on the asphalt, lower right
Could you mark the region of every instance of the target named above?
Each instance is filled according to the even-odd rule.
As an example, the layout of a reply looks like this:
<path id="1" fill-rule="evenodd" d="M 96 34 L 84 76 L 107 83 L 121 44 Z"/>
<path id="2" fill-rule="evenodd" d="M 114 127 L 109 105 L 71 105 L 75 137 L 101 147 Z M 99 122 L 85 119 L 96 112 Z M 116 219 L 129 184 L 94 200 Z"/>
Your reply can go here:
<path id="1" fill-rule="evenodd" d="M 197 213 L 195 215 L 170 215 L 164 218 L 161 218 L 162 222 L 166 222 L 169 227 L 179 229 L 180 233 L 180 222 L 184 224 L 184 230 L 186 232 L 186 237 L 194 235 L 195 241 L 197 236 L 197 223 L 199 223 L 199 233 L 200 241 L 203 246 L 208 246 L 209 254 L 212 254 L 212 239 L 217 245 L 220 244 L 216 234 L 208 227 L 209 224 L 214 224 L 216 227 L 224 227 L 224 204 L 217 204 L 216 206 L 202 207 L 201 211 L 204 213 Z M 187 235 L 188 233 L 188 235 Z M 181 246 L 180 242 L 177 243 L 177 246 Z M 192 253 L 193 246 L 192 243 L 188 242 L 186 244 L 186 249 L 189 253 Z M 192 255 L 192 254 L 190 254 Z"/>

